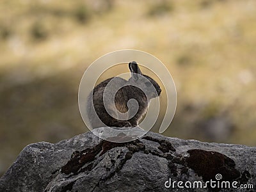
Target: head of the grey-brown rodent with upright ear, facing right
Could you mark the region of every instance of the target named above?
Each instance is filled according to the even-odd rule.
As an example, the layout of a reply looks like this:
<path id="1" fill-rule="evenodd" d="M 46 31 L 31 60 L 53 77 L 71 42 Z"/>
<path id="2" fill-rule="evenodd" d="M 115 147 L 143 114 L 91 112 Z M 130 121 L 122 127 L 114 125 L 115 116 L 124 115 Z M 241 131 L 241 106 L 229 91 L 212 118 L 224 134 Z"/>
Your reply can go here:
<path id="1" fill-rule="evenodd" d="M 129 79 L 130 83 L 140 84 L 140 87 L 143 88 L 143 92 L 153 99 L 154 97 L 158 97 L 161 93 L 161 88 L 159 84 L 154 81 L 151 77 L 143 75 L 138 64 L 135 61 L 129 63 L 129 69 L 131 71 L 131 78 Z"/>

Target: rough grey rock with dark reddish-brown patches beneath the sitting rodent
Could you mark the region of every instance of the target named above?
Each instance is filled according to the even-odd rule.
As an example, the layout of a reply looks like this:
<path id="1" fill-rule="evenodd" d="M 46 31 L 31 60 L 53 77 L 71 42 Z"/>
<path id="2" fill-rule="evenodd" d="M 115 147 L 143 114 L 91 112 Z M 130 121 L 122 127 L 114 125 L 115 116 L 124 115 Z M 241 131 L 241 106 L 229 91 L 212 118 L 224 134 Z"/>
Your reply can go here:
<path id="1" fill-rule="evenodd" d="M 216 180 L 217 174 L 222 179 Z M 0 179 L 0 191 L 238 190 L 211 188 L 211 179 L 238 182 L 237 187 L 250 184 L 253 189 L 247 191 L 255 191 L 255 175 L 256 147 L 180 140 L 153 132 L 128 143 L 111 143 L 86 132 L 56 144 L 25 147 Z M 179 181 L 183 189 L 177 186 Z M 188 181 L 192 188 L 186 188 Z M 193 188 L 194 181 L 207 188 Z"/>

